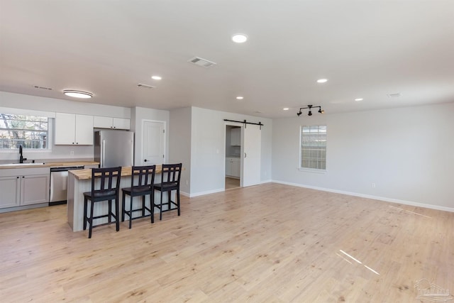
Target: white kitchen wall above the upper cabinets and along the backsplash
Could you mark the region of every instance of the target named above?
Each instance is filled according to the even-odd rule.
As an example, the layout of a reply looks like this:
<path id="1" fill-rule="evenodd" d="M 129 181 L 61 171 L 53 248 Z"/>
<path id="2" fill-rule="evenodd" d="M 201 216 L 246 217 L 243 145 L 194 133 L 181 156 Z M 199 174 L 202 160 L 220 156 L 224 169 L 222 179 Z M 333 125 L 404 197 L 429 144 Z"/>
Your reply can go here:
<path id="1" fill-rule="evenodd" d="M 0 107 L 13 109 L 26 109 L 35 111 L 49 111 L 72 114 L 86 114 L 92 116 L 111 116 L 130 119 L 131 109 L 120 106 L 94 104 L 92 100 L 78 102 L 63 99 L 35 97 L 26 94 L 13 94 L 0 92 Z M 52 125 L 54 119 L 51 119 Z M 53 138 L 52 138 L 53 139 Z M 72 155 L 71 152 L 74 152 Z M 52 145 L 51 151 L 24 150 L 24 157 L 30 160 L 93 160 L 93 145 Z M 18 153 L 2 150 L 0 162 L 18 160 Z"/>

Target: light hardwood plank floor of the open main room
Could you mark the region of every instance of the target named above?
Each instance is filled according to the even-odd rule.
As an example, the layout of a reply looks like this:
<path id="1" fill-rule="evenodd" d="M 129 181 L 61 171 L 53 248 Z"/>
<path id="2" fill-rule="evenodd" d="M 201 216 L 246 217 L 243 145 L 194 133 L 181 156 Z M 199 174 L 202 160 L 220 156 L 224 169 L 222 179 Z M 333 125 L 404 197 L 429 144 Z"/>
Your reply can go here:
<path id="1" fill-rule="evenodd" d="M 261 184 L 72 233 L 66 206 L 0 214 L 0 302 L 419 302 L 454 291 L 454 213 Z"/>

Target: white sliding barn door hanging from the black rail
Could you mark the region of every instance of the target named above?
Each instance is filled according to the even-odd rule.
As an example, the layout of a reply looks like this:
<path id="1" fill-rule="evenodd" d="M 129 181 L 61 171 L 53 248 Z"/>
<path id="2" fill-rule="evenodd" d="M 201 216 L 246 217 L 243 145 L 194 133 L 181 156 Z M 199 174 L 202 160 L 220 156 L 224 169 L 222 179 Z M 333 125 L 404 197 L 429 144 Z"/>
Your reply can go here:
<path id="1" fill-rule="evenodd" d="M 260 184 L 262 131 L 258 125 L 247 124 L 242 127 L 242 135 L 241 186 Z"/>

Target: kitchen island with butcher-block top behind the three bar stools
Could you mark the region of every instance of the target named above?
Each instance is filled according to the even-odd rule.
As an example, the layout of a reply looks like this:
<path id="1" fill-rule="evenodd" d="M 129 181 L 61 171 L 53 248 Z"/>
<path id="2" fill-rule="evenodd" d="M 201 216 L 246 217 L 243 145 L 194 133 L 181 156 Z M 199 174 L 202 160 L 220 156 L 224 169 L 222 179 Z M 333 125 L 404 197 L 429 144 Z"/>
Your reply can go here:
<path id="1" fill-rule="evenodd" d="M 156 165 L 155 183 L 159 183 L 161 180 L 162 165 Z M 132 167 L 121 167 L 121 180 L 120 180 L 120 215 L 121 218 L 121 204 L 122 204 L 122 192 L 121 188 L 131 187 L 131 175 Z M 68 175 L 68 199 L 67 199 L 67 219 L 68 224 L 72 228 L 72 231 L 82 231 L 84 227 L 84 192 L 92 190 L 92 170 L 70 170 Z M 127 196 L 128 197 L 128 196 Z M 149 204 L 149 197 L 146 199 L 146 203 Z M 160 193 L 155 194 L 155 201 L 159 201 Z M 129 198 L 126 198 L 129 202 Z M 167 195 L 164 195 L 163 202 L 167 202 Z M 133 208 L 137 208 L 141 203 L 141 199 L 134 199 Z M 128 205 L 128 203 L 126 204 Z M 107 203 L 96 203 L 94 204 L 94 214 L 107 213 Z M 138 214 L 140 216 L 140 214 Z M 107 218 L 94 219 L 94 224 L 106 223 Z"/>

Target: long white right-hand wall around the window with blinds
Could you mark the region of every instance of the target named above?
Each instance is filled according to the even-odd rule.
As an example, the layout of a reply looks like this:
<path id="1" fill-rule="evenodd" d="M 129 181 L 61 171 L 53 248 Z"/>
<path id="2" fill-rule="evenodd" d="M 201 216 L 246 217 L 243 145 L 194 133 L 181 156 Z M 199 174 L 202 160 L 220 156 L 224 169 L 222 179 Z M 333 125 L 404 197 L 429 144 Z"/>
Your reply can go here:
<path id="1" fill-rule="evenodd" d="M 272 178 L 454 211 L 453 114 L 454 104 L 440 104 L 275 119 Z M 299 126 L 323 124 L 327 172 L 299 171 Z"/>

